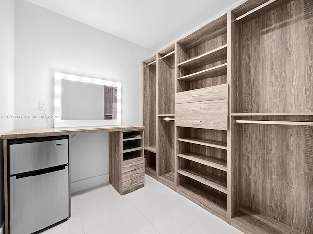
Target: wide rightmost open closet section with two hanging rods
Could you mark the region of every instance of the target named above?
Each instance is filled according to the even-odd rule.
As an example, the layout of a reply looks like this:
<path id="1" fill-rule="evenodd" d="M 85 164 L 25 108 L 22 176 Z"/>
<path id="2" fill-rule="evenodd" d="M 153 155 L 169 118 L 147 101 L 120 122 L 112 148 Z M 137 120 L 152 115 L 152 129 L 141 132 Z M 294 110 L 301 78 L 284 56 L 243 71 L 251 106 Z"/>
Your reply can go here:
<path id="1" fill-rule="evenodd" d="M 313 233 L 313 1 L 247 1 L 231 20 L 231 223 Z"/>

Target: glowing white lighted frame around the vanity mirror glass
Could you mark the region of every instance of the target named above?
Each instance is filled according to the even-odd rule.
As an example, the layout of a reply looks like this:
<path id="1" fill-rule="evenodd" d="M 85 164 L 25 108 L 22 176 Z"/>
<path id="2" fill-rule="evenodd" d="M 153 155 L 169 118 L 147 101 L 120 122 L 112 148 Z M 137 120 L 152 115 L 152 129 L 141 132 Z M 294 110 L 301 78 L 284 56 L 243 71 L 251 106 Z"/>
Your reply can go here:
<path id="1" fill-rule="evenodd" d="M 62 80 L 71 80 L 77 82 L 84 82 L 89 84 L 99 84 L 103 86 L 112 86 L 117 88 L 117 119 L 104 119 L 104 120 L 62 120 L 58 118 L 62 116 Z M 54 128 L 53 130 L 61 130 L 68 128 L 101 128 L 108 125 L 121 125 L 122 124 L 122 84 L 102 79 L 94 79 L 88 77 L 80 77 L 64 73 L 54 73 Z"/>

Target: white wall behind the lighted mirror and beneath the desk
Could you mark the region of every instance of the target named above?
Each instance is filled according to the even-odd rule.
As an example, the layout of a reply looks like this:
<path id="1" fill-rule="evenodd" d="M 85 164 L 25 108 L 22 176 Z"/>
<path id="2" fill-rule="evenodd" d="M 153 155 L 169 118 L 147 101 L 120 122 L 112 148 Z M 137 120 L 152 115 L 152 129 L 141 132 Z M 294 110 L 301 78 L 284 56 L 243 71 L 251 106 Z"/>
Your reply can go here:
<path id="1" fill-rule="evenodd" d="M 29 2 L 15 4 L 15 114 L 26 116 L 16 129 L 51 127 L 27 116 L 41 114 L 38 100 L 53 114 L 54 71 L 121 82 L 122 123 L 141 124 L 141 61 L 153 51 Z M 108 173 L 108 134 L 76 135 L 72 146 L 72 182 Z"/>

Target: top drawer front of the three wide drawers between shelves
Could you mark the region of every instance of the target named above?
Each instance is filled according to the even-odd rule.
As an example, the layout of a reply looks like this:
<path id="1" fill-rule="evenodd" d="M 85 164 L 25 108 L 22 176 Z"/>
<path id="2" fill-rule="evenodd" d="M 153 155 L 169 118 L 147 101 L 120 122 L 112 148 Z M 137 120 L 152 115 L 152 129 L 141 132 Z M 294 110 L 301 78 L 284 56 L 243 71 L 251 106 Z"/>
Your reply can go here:
<path id="1" fill-rule="evenodd" d="M 225 99 L 228 99 L 228 84 L 188 90 L 175 94 L 175 104 Z"/>

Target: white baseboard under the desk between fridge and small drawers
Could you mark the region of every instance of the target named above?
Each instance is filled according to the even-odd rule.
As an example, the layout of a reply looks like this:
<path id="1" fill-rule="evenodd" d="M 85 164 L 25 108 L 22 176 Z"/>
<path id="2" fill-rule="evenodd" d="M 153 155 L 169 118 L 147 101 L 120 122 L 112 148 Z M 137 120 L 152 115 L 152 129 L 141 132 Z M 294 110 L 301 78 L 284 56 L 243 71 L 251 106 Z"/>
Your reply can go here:
<path id="1" fill-rule="evenodd" d="M 89 189 L 89 188 L 98 186 L 100 184 L 105 184 L 108 182 L 109 182 L 109 173 L 105 175 L 95 176 L 92 178 L 73 182 L 71 183 L 71 190 L 72 190 L 72 193 L 76 193 L 78 191 Z"/>

